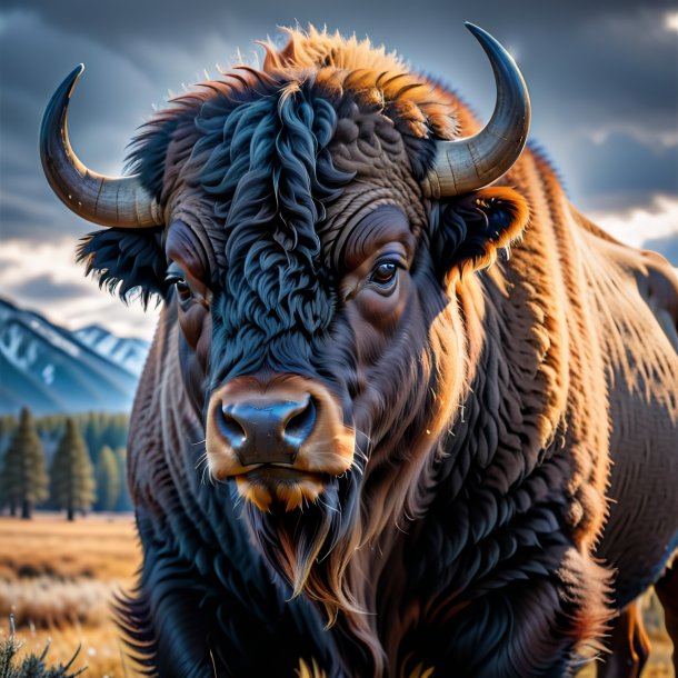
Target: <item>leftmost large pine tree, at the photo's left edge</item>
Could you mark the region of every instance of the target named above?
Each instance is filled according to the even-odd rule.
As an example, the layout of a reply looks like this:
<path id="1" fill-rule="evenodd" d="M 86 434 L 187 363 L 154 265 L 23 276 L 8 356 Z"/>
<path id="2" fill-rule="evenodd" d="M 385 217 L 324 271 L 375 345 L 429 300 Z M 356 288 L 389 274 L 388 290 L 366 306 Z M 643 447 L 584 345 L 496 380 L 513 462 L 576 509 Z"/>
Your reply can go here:
<path id="1" fill-rule="evenodd" d="M 1 488 L 10 514 L 14 516 L 20 506 L 21 517 L 27 519 L 49 495 L 44 450 L 28 408 L 21 410 L 19 426 L 4 452 Z"/>

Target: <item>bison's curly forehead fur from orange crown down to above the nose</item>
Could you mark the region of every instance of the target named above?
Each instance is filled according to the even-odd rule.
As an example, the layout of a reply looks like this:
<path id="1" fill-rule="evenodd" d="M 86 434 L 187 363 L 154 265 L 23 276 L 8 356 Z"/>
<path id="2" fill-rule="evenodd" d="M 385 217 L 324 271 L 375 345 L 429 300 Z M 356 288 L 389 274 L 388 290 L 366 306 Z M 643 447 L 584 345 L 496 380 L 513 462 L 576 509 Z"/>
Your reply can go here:
<path id="1" fill-rule="evenodd" d="M 292 357 L 308 355 L 332 315 L 317 232 L 325 205 L 356 175 L 381 169 L 376 159 L 383 154 L 407 158 L 420 179 L 432 161 L 432 137 L 457 129 L 435 86 L 383 48 L 313 28 L 289 30 L 288 38 L 280 51 L 265 44 L 261 70 L 236 68 L 178 99 L 137 139 L 131 157 L 161 200 L 188 189 L 190 200 L 198 192 L 210 202 L 201 227 L 227 270 L 212 355 L 223 355 L 228 341 L 229 365 L 216 380 L 265 361 L 303 371 Z M 341 162 L 332 141 L 358 157 L 345 150 Z"/>

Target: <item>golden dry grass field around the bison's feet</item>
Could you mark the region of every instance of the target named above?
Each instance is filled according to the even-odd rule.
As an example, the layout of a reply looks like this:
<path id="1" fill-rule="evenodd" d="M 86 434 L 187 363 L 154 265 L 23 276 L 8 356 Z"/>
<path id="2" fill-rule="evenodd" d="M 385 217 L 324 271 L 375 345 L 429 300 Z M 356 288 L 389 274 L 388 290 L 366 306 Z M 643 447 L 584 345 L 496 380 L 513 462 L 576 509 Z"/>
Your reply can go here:
<path id="1" fill-rule="evenodd" d="M 0 517 L 0 640 L 13 612 L 22 652 L 40 654 L 50 638 L 48 658 L 54 664 L 67 662 L 81 645 L 73 668 L 88 666 L 83 678 L 137 676 L 109 604 L 114 592 L 133 586 L 140 558 L 131 516 L 70 524 L 53 515 L 29 521 Z M 651 598 L 645 608 L 652 654 L 642 676 L 674 678 L 660 610 Z M 594 676 L 589 667 L 579 678 Z"/>

